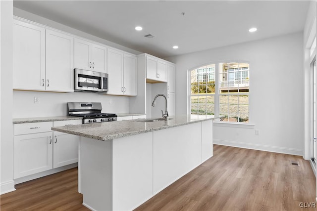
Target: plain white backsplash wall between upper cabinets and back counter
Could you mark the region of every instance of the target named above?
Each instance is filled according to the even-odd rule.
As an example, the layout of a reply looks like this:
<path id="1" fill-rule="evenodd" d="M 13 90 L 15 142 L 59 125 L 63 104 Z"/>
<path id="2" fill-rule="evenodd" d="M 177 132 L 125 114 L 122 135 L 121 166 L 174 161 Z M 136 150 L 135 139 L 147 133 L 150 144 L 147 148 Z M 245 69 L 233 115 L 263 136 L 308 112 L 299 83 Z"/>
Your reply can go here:
<path id="1" fill-rule="evenodd" d="M 129 113 L 128 96 L 13 90 L 12 118 L 67 116 L 67 102 L 101 102 L 105 113 Z"/>

